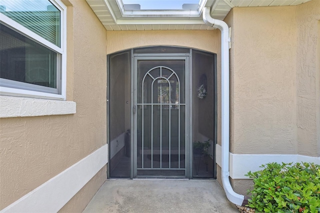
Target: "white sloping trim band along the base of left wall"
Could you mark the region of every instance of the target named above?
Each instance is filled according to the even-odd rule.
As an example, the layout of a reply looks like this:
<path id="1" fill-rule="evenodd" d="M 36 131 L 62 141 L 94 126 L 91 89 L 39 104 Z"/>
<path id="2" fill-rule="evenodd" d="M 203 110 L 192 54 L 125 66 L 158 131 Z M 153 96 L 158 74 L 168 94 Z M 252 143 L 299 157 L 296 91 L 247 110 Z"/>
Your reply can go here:
<path id="1" fill-rule="evenodd" d="M 107 162 L 108 146 L 105 144 L 0 212 L 57 212 Z"/>

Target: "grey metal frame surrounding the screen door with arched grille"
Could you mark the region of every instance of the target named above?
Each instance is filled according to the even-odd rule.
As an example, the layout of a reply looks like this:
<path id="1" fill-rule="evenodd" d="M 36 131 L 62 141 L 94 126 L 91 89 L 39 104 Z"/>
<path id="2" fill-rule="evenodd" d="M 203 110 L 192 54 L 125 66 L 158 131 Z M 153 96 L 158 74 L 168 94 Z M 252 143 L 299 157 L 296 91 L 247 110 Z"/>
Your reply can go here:
<path id="1" fill-rule="evenodd" d="M 133 52 L 132 52 L 133 53 Z M 184 60 L 185 68 L 185 176 L 192 177 L 192 64 L 190 53 L 131 54 L 131 178 L 137 178 L 137 60 Z M 143 176 L 144 177 L 144 176 Z M 152 177 L 152 176 L 150 176 Z M 168 176 L 173 178 L 172 176 Z M 181 178 L 181 177 L 178 177 Z"/>

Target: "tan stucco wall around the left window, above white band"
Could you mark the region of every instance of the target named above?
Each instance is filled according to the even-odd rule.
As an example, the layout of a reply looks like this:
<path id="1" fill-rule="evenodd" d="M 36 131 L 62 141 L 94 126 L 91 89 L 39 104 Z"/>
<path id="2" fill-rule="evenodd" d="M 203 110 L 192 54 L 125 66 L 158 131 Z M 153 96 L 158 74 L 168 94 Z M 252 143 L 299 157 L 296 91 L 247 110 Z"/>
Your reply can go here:
<path id="1" fill-rule="evenodd" d="M 67 100 L 76 113 L 0 119 L 0 209 L 106 143 L 105 29 L 84 0 L 64 2 Z"/>

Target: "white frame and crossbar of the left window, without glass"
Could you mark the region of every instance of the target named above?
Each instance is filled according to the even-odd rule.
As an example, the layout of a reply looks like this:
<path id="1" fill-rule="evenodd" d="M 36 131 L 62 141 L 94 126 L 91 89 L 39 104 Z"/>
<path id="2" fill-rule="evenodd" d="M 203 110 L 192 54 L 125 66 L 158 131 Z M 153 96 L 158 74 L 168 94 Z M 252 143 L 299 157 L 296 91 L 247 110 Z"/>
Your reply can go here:
<path id="1" fill-rule="evenodd" d="M 61 41 L 60 47 L 44 39 L 40 35 L 27 29 L 26 27 L 22 26 L 21 24 L 17 23 L 16 21 L 12 20 L 11 18 L 7 17 L 2 13 L 0 13 L 0 21 L 4 25 L 17 31 L 18 33 L 30 38 L 31 40 L 61 55 L 61 66 L 60 66 L 61 70 L 57 69 L 57 72 L 60 72 L 61 74 L 61 81 L 60 81 L 61 94 L 28 90 L 26 88 L 23 88 L 23 89 L 11 88 L 11 87 L 0 85 L 0 95 L 35 97 L 35 98 L 45 98 L 45 99 L 57 99 L 57 100 L 66 99 L 66 6 L 61 2 L 61 0 L 49 0 L 49 1 L 60 10 L 60 41 Z M 3 80 L 6 81 L 6 79 L 3 79 Z"/>

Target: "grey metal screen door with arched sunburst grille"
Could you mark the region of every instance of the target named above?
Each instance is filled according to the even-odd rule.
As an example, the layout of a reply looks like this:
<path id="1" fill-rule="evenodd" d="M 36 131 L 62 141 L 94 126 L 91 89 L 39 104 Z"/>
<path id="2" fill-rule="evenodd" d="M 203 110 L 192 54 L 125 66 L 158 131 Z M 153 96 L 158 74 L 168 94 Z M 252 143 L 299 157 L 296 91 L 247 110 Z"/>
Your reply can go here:
<path id="1" fill-rule="evenodd" d="M 134 177 L 188 176 L 188 57 L 134 57 Z"/>

